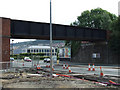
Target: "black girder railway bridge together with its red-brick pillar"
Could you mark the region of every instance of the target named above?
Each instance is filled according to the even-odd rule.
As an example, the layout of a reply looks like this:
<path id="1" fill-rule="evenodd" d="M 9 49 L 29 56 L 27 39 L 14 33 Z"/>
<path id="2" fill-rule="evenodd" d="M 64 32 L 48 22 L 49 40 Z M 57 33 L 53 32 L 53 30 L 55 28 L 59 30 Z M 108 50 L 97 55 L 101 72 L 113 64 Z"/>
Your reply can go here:
<path id="1" fill-rule="evenodd" d="M 107 31 L 93 28 L 52 24 L 53 40 L 107 40 Z M 49 40 L 50 24 L 0 18 L 0 62 L 10 60 L 10 38 Z"/>

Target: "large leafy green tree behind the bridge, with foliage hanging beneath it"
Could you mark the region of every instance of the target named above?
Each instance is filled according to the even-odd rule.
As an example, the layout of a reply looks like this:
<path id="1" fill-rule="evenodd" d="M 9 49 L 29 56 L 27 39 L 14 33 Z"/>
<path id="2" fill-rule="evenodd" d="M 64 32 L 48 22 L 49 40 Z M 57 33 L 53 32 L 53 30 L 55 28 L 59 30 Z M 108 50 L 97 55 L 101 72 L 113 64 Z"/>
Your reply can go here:
<path id="1" fill-rule="evenodd" d="M 117 19 L 116 15 L 111 14 L 110 12 L 103 10 L 101 8 L 96 8 L 90 11 L 89 10 L 84 11 L 80 16 L 77 17 L 77 20 L 75 22 L 71 23 L 71 25 L 112 30 L 111 24 L 116 19 Z M 74 42 L 66 41 L 66 45 L 70 45 L 70 42 L 71 42 L 72 50 L 73 48 L 76 48 L 76 46 L 78 46 L 78 48 L 80 47 L 81 41 L 74 41 Z M 73 55 L 75 55 L 74 53 L 77 52 L 77 50 L 78 49 L 72 51 Z"/>

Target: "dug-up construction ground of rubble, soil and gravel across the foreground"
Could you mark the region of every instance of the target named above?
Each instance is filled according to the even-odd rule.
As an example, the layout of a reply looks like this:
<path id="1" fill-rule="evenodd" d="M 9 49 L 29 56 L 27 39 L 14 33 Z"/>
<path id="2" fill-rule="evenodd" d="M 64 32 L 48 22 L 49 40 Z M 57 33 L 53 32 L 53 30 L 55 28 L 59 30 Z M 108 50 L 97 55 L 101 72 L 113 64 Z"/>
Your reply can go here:
<path id="1" fill-rule="evenodd" d="M 35 70 L 36 71 L 36 70 Z M 35 72 L 31 69 L 30 72 Z M 76 74 L 64 74 L 71 77 L 64 77 L 60 74 L 57 76 L 53 74 L 51 78 L 49 72 L 37 71 L 39 74 L 32 74 L 29 72 L 20 73 L 4 73 L 2 80 L 3 88 L 119 88 L 114 85 L 106 85 L 98 82 L 95 78 L 99 78 L 99 81 L 103 82 L 103 77 L 89 76 L 89 75 L 76 75 Z M 55 73 L 55 72 L 54 72 Z M 56 72 L 57 73 L 57 72 Z M 74 76 L 74 77 L 73 77 Z M 76 77 L 75 77 L 76 76 Z M 94 77 L 94 78 L 93 78 Z M 93 78 L 93 79 L 92 79 Z M 112 79 L 113 80 L 113 79 Z M 115 80 L 114 80 L 115 81 Z"/>

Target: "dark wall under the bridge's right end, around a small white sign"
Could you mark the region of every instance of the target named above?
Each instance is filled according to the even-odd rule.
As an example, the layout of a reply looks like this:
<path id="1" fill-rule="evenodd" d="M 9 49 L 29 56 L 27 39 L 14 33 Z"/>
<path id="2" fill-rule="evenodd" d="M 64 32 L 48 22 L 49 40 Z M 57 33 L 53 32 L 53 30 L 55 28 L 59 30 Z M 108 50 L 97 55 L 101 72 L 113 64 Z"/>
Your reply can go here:
<path id="1" fill-rule="evenodd" d="M 100 53 L 100 58 L 93 59 L 92 53 Z M 73 62 L 96 63 L 96 64 L 118 64 L 120 55 L 114 54 L 106 43 L 83 46 L 76 56 L 72 57 Z"/>

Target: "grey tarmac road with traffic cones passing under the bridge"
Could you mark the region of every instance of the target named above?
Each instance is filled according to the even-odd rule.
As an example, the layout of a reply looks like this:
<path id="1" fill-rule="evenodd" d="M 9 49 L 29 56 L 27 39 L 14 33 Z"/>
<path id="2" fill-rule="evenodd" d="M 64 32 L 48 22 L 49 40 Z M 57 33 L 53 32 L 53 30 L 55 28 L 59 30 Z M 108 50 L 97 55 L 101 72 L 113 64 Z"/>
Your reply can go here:
<path id="1" fill-rule="evenodd" d="M 63 63 L 68 63 L 72 72 L 81 73 L 81 74 L 100 74 L 100 65 L 95 65 L 95 71 L 88 71 L 88 65 L 81 65 L 80 63 L 73 63 L 70 61 L 60 61 L 59 65 L 54 64 L 54 70 L 66 71 L 69 72 L 68 69 L 63 69 Z M 20 67 L 20 68 L 29 68 L 34 67 L 35 65 L 40 64 L 40 66 L 44 69 L 50 70 L 50 68 L 46 68 L 46 64 L 50 65 L 50 63 L 44 63 L 43 60 L 33 61 L 33 62 L 23 62 L 21 60 L 15 60 L 12 62 L 12 67 Z M 101 66 L 102 72 L 104 75 L 112 75 L 112 76 L 120 76 L 120 67 L 119 66 Z M 92 69 L 92 66 L 91 66 Z"/>

